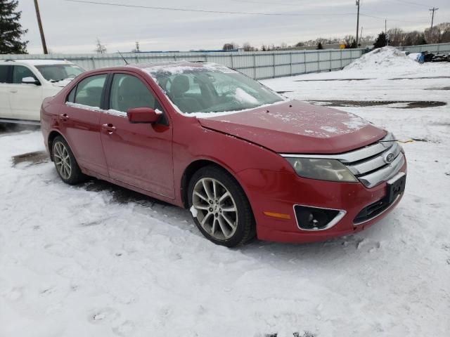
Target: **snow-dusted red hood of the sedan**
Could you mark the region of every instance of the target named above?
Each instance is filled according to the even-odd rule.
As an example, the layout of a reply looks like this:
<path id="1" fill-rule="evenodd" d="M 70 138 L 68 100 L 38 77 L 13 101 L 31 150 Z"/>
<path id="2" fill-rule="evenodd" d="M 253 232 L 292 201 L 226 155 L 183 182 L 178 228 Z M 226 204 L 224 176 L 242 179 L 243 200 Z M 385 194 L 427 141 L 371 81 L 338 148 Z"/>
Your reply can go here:
<path id="1" fill-rule="evenodd" d="M 374 143 L 386 131 L 349 112 L 290 100 L 253 110 L 198 117 L 205 128 L 278 153 L 342 153 Z"/>

